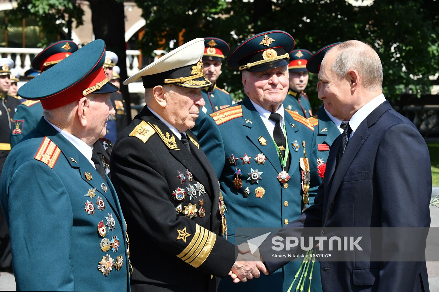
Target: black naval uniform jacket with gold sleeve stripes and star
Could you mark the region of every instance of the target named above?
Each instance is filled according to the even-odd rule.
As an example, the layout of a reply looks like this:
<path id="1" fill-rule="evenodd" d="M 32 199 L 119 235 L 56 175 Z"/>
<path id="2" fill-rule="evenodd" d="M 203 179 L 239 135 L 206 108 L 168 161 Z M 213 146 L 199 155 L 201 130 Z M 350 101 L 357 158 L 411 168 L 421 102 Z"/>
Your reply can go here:
<path id="1" fill-rule="evenodd" d="M 216 277 L 226 277 L 235 262 L 235 246 L 221 233 L 215 172 L 195 135 L 186 134 L 191 152 L 145 106 L 113 148 L 112 182 L 130 227 L 133 291 L 216 291 Z M 183 191 L 184 198 L 173 199 Z M 198 209 L 192 218 L 191 204 Z"/>

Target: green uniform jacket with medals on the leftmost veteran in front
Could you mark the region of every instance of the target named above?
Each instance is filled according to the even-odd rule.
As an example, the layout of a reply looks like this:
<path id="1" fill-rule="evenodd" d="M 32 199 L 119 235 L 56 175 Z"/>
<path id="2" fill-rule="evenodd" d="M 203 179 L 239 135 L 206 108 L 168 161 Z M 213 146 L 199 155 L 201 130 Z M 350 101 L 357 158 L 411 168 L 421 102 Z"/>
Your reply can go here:
<path id="1" fill-rule="evenodd" d="M 10 157 L 0 199 L 17 290 L 129 291 L 125 221 L 108 177 L 44 118 Z"/>

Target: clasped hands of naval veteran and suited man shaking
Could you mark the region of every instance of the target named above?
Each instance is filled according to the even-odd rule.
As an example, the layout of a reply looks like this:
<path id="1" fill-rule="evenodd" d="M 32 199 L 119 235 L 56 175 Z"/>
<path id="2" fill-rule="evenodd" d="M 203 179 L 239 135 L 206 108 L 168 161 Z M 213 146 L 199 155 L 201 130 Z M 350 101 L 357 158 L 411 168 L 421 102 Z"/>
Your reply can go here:
<path id="1" fill-rule="evenodd" d="M 259 250 L 252 254 L 247 243 L 238 245 L 238 250 L 239 255 L 229 272 L 229 276 L 232 277 L 234 283 L 259 278 L 260 271 L 268 276 L 268 270 L 263 263 Z"/>

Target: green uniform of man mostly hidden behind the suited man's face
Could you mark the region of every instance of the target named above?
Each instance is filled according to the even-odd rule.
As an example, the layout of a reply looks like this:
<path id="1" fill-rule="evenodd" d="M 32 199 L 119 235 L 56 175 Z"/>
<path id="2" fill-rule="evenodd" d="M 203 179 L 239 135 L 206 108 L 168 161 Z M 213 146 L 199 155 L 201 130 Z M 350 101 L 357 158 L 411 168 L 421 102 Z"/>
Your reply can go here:
<path id="1" fill-rule="evenodd" d="M 317 115 L 309 118 L 309 122 L 314 125 L 314 130 L 317 132 L 317 169 L 320 169 L 319 176 L 321 173 L 320 177 L 323 177 L 323 169 L 326 167 L 329 150 L 335 138 L 337 138 L 341 132 L 331 118 L 329 118 L 323 105 Z"/>

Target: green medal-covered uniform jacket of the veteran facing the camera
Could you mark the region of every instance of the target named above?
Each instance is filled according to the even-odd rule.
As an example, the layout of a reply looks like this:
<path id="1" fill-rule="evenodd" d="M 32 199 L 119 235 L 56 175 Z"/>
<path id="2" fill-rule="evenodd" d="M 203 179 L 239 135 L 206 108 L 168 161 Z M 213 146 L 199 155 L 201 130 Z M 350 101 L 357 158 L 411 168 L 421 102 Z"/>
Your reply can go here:
<path id="1" fill-rule="evenodd" d="M 290 168 L 286 169 L 291 178 L 286 184 L 277 179 L 282 167 L 276 146 L 248 97 L 201 121 L 198 137 L 220 182 L 228 210 L 228 240 L 232 243 L 235 243 L 237 227 L 284 227 L 300 216 L 304 207 L 299 166 L 299 159 L 305 157 L 302 142 L 306 142 L 306 154 L 313 170 L 309 205 L 313 204 L 319 183 L 313 125 L 287 110 L 284 110 L 284 120 L 291 155 Z M 235 174 L 236 169 L 241 170 L 241 175 Z M 256 169 L 261 178 L 252 183 L 248 178 Z M 236 187 L 239 181 L 236 183 L 235 179 L 241 180 L 239 188 Z M 291 262 L 270 276 L 261 274 L 260 278 L 246 283 L 234 284 L 226 278 L 221 281 L 219 291 L 286 291 L 299 266 L 299 262 Z M 312 289 L 321 291 L 320 269 L 314 268 Z"/>

